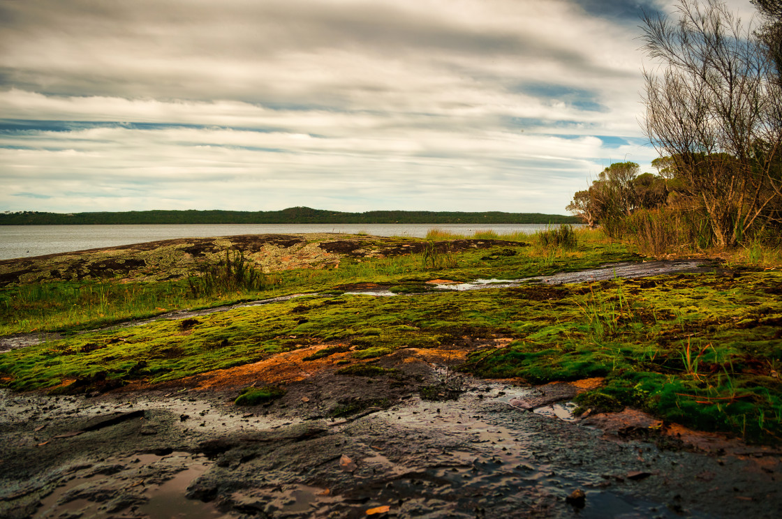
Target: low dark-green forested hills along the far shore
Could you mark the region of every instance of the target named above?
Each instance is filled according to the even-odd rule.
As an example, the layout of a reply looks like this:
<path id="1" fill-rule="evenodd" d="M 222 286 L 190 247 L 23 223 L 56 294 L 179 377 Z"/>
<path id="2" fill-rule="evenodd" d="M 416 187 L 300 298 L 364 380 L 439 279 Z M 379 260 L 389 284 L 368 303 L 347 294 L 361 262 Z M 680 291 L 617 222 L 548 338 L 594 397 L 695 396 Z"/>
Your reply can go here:
<path id="1" fill-rule="evenodd" d="M 541 213 L 368 211 L 340 213 L 309 207 L 282 211 L 127 211 L 123 213 L 0 214 L 0 225 L 112 224 L 576 224 L 576 217 Z"/>

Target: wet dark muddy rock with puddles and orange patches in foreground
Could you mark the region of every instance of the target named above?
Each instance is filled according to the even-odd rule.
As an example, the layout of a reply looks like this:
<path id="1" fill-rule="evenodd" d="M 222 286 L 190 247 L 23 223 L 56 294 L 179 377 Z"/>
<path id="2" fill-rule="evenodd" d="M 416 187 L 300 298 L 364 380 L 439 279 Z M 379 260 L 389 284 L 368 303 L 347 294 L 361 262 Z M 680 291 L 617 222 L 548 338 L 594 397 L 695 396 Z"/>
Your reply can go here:
<path id="1" fill-rule="evenodd" d="M 93 398 L 0 392 L 0 516 L 777 517 L 780 453 L 659 442 L 642 414 L 646 436 L 576 421 L 569 399 L 599 380 L 483 381 L 450 369 L 464 353 L 400 350 L 373 378 L 337 374 L 336 353 Z M 285 396 L 233 403 L 271 382 Z M 432 386 L 458 399 L 421 399 Z"/>

